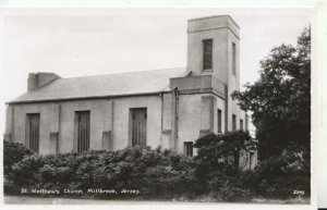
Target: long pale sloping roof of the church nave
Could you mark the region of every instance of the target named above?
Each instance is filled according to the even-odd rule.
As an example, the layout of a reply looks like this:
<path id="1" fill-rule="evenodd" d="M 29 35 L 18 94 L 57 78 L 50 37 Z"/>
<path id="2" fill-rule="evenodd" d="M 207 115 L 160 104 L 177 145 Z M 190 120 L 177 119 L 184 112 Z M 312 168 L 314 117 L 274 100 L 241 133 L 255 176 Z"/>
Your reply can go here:
<path id="1" fill-rule="evenodd" d="M 169 79 L 171 77 L 185 75 L 185 69 L 169 69 L 58 78 L 44 87 L 25 92 L 8 103 L 155 94 L 170 90 Z"/>

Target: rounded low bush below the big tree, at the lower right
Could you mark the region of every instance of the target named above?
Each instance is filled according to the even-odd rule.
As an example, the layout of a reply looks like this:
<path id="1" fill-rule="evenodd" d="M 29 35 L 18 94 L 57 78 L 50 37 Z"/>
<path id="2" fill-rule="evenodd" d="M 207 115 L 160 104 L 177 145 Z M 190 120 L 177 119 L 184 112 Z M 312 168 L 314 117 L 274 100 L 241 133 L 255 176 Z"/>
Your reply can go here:
<path id="1" fill-rule="evenodd" d="M 243 183 L 256 196 L 289 199 L 299 197 L 294 190 L 303 190 L 304 197 L 311 195 L 310 168 L 302 155 L 284 150 L 279 157 L 262 161 L 253 172 L 243 176 Z"/>

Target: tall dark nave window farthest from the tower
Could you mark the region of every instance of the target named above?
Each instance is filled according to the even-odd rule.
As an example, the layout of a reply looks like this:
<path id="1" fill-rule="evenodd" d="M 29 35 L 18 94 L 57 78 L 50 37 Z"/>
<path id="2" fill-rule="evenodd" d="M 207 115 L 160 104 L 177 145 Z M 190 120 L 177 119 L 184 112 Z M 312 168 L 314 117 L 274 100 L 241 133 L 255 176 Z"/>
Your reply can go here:
<path id="1" fill-rule="evenodd" d="M 39 113 L 27 114 L 26 146 L 35 152 L 39 152 Z"/>

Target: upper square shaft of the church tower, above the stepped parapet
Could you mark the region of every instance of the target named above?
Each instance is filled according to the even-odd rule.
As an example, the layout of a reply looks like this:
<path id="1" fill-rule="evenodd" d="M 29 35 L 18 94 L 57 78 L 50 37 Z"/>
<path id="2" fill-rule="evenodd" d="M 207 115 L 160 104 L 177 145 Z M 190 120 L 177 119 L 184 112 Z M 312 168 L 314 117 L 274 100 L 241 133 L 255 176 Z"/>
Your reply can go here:
<path id="1" fill-rule="evenodd" d="M 229 15 L 189 20 L 187 71 L 213 75 L 229 89 L 239 89 L 239 30 Z"/>

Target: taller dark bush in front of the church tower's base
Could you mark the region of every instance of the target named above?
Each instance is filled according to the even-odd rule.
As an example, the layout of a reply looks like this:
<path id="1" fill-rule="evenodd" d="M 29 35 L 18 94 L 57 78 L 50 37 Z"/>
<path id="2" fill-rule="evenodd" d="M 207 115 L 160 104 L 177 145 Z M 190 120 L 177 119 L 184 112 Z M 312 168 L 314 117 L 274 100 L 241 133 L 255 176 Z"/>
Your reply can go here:
<path id="1" fill-rule="evenodd" d="M 256 143 L 247 132 L 223 135 L 209 134 L 196 140 L 198 155 L 195 176 L 203 192 L 221 201 L 247 201 L 252 192 L 242 184 L 242 174 L 234 165 L 234 153 L 241 149 L 255 149 Z"/>

